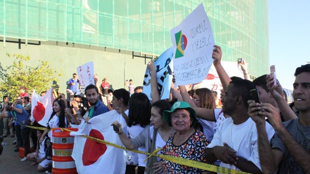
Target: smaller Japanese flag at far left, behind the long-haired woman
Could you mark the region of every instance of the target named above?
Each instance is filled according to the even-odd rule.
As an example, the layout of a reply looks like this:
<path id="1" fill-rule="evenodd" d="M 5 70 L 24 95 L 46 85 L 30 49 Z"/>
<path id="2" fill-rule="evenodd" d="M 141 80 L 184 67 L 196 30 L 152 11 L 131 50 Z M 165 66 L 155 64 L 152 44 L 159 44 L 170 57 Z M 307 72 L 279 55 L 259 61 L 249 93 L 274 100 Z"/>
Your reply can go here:
<path id="1" fill-rule="evenodd" d="M 33 122 L 35 120 L 38 124 L 46 127 L 52 113 L 52 102 L 54 99 L 52 88 L 50 88 L 43 97 L 33 91 L 31 94 L 30 121 Z"/>

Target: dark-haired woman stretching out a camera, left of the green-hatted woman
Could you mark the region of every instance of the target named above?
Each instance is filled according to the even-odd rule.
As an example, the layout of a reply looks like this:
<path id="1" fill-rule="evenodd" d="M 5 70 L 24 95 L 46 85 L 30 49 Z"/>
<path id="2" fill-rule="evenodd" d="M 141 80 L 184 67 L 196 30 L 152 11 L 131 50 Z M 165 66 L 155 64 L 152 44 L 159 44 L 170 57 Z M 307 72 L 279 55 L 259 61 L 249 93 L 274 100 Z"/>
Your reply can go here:
<path id="1" fill-rule="evenodd" d="M 151 117 L 149 121 L 151 125 L 147 125 L 142 132 L 134 139 L 128 139 L 121 130 L 121 125 L 115 121 L 112 124 L 117 124 L 119 131 L 116 132 L 119 135 L 119 139 L 122 144 L 129 150 L 137 149 L 145 146 L 148 153 L 152 153 L 156 148 L 162 148 L 169 136 L 174 133 L 174 129 L 168 126 L 162 118 L 164 110 L 170 110 L 171 103 L 167 100 L 158 100 L 152 104 Z M 129 108 L 130 110 L 130 108 Z M 158 152 L 160 153 L 160 152 Z M 147 160 L 145 167 L 146 174 L 162 174 L 163 166 L 160 158 L 150 157 Z"/>

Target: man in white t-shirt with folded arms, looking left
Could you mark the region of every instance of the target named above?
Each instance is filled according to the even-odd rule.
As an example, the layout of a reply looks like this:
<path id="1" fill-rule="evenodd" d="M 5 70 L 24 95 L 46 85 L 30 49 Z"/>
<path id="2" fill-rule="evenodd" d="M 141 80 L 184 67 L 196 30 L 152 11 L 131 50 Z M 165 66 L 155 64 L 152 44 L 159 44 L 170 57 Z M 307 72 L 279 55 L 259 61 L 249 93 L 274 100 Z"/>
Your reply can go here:
<path id="1" fill-rule="evenodd" d="M 231 81 L 222 98 L 222 111 L 230 115 L 219 126 L 211 143 L 206 148 L 206 161 L 221 161 L 220 167 L 259 174 L 257 130 L 255 122 L 247 114 L 250 90 L 255 85 L 248 80 Z M 274 130 L 266 123 L 268 141 Z"/>

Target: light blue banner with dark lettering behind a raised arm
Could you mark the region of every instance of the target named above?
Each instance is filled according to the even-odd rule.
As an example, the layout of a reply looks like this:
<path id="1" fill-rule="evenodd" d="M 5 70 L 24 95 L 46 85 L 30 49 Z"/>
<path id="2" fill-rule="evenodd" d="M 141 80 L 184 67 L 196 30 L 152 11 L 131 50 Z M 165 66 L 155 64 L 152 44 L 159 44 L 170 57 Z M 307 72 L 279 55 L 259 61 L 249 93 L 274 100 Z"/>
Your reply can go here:
<path id="1" fill-rule="evenodd" d="M 165 50 L 154 62 L 157 77 L 157 86 L 160 95 L 160 99 L 168 99 L 170 95 L 170 87 L 173 72 L 173 47 Z M 143 93 L 150 97 L 150 73 L 148 67 L 146 67 L 144 79 L 143 79 Z"/>

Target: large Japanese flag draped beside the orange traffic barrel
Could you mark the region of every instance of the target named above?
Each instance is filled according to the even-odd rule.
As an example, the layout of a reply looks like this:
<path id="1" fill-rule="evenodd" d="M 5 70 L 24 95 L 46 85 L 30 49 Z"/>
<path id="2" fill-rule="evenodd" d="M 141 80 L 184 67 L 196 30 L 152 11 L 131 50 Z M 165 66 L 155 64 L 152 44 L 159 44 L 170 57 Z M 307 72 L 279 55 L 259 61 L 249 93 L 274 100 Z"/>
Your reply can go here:
<path id="1" fill-rule="evenodd" d="M 128 114 L 128 110 L 125 113 Z M 75 136 L 72 158 L 79 174 L 125 173 L 126 165 L 122 149 L 80 137 L 80 135 L 88 135 L 123 146 L 113 127 L 110 126 L 113 121 L 118 121 L 127 135 L 126 122 L 115 110 L 93 117 L 88 123 L 82 121 L 78 131 L 70 133 L 71 136 Z"/>

